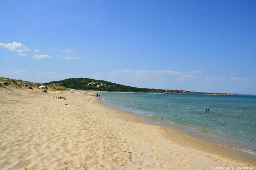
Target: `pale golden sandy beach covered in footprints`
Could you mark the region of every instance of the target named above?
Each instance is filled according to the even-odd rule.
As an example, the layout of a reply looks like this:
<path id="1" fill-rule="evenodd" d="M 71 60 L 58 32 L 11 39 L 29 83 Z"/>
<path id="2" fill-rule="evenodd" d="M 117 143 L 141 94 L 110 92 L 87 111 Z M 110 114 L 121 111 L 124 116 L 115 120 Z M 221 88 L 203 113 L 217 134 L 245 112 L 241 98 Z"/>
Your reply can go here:
<path id="1" fill-rule="evenodd" d="M 0 170 L 256 169 L 249 158 L 143 123 L 94 96 L 48 97 L 55 95 L 0 88 Z"/>

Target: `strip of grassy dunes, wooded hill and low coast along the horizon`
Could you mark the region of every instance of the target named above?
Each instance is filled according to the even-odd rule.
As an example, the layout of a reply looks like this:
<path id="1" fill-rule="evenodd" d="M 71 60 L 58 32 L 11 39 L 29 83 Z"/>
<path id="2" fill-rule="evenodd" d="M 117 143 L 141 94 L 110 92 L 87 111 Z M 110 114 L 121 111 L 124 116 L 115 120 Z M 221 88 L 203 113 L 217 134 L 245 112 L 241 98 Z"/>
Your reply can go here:
<path id="1" fill-rule="evenodd" d="M 68 83 L 66 84 L 66 80 L 68 80 Z M 87 78 L 73 78 L 73 79 L 65 79 L 60 81 L 54 81 L 49 83 L 32 83 L 27 82 L 24 80 L 16 80 L 16 79 L 10 79 L 10 78 L 4 78 L 0 77 L 0 87 L 6 88 L 8 85 L 12 86 L 48 86 L 56 90 L 69 90 L 70 88 L 73 89 L 79 89 L 79 90 L 92 90 L 97 92 L 125 92 L 125 93 L 148 93 L 148 94 L 201 94 L 201 95 L 239 95 L 239 96 L 256 96 L 256 94 L 238 94 L 238 93 L 209 93 L 209 92 L 197 92 L 197 91 L 186 91 L 186 90 L 162 90 L 162 89 L 150 89 L 150 88 L 138 88 L 138 87 L 131 87 L 131 86 L 125 86 L 122 84 L 116 84 L 107 82 L 110 85 L 110 87 L 95 87 L 95 86 L 88 86 L 86 84 L 87 82 L 84 82 L 83 80 L 88 80 L 88 82 L 94 80 L 94 79 L 87 79 Z M 103 80 L 95 80 L 99 82 L 106 82 Z M 63 83 L 62 83 L 63 82 Z M 61 84 L 61 85 L 51 85 L 50 83 L 55 84 Z M 71 84 L 69 84 L 71 83 Z M 115 87 L 113 87 L 115 86 Z"/>

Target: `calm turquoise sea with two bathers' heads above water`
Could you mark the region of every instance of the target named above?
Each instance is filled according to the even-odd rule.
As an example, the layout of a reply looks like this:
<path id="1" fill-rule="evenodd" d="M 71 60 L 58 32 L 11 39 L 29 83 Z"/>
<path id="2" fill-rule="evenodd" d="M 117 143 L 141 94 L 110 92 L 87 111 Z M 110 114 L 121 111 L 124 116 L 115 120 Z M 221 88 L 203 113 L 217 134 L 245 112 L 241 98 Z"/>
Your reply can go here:
<path id="1" fill-rule="evenodd" d="M 256 154 L 256 96 L 101 93 L 99 101 L 191 137 Z"/>

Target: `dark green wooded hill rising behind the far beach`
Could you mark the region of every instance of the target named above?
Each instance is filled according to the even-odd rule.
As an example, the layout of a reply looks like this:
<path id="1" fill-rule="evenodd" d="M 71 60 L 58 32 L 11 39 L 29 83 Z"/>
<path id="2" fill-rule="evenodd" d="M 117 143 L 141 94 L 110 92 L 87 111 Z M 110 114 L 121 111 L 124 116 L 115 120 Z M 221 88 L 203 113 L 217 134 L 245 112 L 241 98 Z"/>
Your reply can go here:
<path id="1" fill-rule="evenodd" d="M 97 86 L 88 86 L 88 83 L 97 82 L 98 84 L 107 83 L 106 87 L 97 87 Z M 44 84 L 52 84 L 52 83 L 63 83 L 64 87 L 67 88 L 74 88 L 74 89 L 81 89 L 81 90 L 99 90 L 99 91 L 121 91 L 121 92 L 153 92 L 153 93 L 164 93 L 164 90 L 157 90 L 154 88 L 138 88 L 138 87 L 131 87 L 131 86 L 124 86 L 122 84 L 107 82 L 104 80 L 95 80 L 89 78 L 72 78 L 72 79 L 65 79 L 60 81 L 53 81 Z M 108 86 L 115 86 L 115 87 L 108 87 Z"/>

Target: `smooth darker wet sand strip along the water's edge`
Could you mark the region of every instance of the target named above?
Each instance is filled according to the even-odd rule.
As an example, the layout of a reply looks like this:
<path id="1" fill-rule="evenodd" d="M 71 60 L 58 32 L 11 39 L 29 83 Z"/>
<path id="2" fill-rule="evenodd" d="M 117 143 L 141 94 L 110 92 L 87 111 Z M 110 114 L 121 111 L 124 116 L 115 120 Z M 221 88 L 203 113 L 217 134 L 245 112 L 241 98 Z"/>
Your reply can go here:
<path id="1" fill-rule="evenodd" d="M 101 104 L 101 103 L 98 103 L 98 104 Z M 104 105 L 104 104 L 101 104 L 101 105 L 103 107 L 110 108 L 110 107 L 108 107 L 108 105 Z M 110 109 L 118 110 L 118 109 L 115 109 L 115 108 L 110 108 Z M 139 119 L 138 123 L 146 123 L 146 124 L 150 124 L 150 125 L 153 125 L 153 126 L 160 126 L 160 127 L 166 128 L 167 134 L 170 135 L 170 137 L 167 137 L 167 138 L 169 138 L 170 140 L 174 140 L 174 141 L 176 141 L 176 142 L 178 142 L 182 145 L 188 145 L 188 146 L 194 147 L 196 149 L 206 151 L 206 152 L 211 153 L 211 154 L 219 154 L 219 155 L 222 155 L 222 156 L 224 155 L 226 157 L 229 157 L 230 159 L 240 159 L 240 160 L 243 160 L 243 161 L 246 160 L 246 159 L 249 159 L 248 163 L 252 163 L 252 162 L 256 163 L 256 155 L 255 154 L 251 154 L 249 152 L 242 151 L 242 150 L 239 150 L 239 149 L 234 149 L 234 148 L 230 148 L 230 147 L 226 147 L 226 146 L 221 146 L 221 145 L 215 144 L 215 143 L 210 143 L 210 142 L 207 142 L 207 141 L 203 141 L 201 139 L 197 139 L 195 137 L 189 136 L 188 134 L 185 134 L 185 133 L 179 131 L 177 129 L 177 127 L 175 127 L 175 126 L 174 126 L 175 129 L 168 126 L 168 124 L 165 124 L 161 120 L 158 120 L 158 119 L 146 117 L 146 116 L 139 115 L 139 114 L 135 115 L 134 112 L 132 114 L 132 113 L 127 113 L 127 112 L 124 112 L 124 111 L 121 111 L 121 110 L 118 110 L 118 111 L 120 111 L 123 114 L 128 114 L 128 115 L 131 115 L 131 116 L 135 116 L 137 119 Z M 178 138 L 173 138 L 171 134 L 176 134 L 175 136 L 178 137 Z M 184 142 L 184 141 L 189 141 L 189 142 Z M 208 149 L 208 147 L 214 147 L 214 148 L 213 149 Z M 234 154 L 237 154 L 237 155 L 234 155 Z"/>

